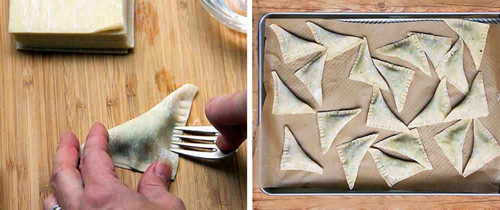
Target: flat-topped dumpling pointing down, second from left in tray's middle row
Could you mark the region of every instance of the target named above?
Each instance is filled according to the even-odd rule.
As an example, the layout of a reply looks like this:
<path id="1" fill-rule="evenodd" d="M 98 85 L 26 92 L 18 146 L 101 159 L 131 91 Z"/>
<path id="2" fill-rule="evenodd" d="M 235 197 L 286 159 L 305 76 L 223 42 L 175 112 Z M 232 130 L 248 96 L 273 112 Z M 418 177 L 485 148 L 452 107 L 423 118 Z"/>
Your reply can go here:
<path id="1" fill-rule="evenodd" d="M 340 130 L 359 112 L 361 112 L 360 108 L 317 112 L 319 142 L 321 143 L 322 154 L 330 149 L 331 143 L 333 143 Z"/>

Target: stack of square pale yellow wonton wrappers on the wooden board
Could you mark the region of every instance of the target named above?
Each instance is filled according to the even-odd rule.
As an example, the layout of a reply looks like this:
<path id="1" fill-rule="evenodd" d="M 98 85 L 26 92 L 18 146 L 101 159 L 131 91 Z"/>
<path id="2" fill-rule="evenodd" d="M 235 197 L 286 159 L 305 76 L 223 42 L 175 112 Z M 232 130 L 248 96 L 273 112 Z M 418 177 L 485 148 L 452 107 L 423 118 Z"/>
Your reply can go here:
<path id="1" fill-rule="evenodd" d="M 134 47 L 134 0 L 10 0 L 16 48 L 127 53 Z"/>

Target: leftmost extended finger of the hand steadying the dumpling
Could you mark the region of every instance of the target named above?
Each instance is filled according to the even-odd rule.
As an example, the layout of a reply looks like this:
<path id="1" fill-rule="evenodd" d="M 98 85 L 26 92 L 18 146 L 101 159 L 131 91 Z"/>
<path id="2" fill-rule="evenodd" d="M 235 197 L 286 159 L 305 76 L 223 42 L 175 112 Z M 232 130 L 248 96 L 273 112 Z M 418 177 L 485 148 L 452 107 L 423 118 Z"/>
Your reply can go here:
<path id="1" fill-rule="evenodd" d="M 51 185 L 59 204 L 67 208 L 77 204 L 83 192 L 83 182 L 77 168 L 78 148 L 76 136 L 71 132 L 65 132 L 61 135 L 53 160 Z"/>

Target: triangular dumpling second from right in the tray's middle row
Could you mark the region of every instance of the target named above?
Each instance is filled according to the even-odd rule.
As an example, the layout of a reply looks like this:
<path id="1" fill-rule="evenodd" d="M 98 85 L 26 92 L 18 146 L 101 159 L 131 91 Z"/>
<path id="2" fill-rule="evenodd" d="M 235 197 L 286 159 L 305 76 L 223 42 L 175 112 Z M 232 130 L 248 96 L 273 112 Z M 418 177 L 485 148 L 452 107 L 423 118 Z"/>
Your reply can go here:
<path id="1" fill-rule="evenodd" d="M 437 85 L 432 99 L 430 99 L 425 108 L 411 120 L 408 127 L 441 123 L 450 111 L 451 105 L 449 104 L 448 90 L 446 89 L 446 78 L 443 78 Z"/>

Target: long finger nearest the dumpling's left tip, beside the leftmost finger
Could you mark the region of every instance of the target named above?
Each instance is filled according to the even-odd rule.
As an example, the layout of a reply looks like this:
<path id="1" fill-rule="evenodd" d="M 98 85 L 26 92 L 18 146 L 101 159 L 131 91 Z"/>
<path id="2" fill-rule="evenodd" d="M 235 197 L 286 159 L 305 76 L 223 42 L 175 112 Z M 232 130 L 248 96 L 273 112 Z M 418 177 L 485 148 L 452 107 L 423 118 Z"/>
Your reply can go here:
<path id="1" fill-rule="evenodd" d="M 111 157 L 107 154 L 107 129 L 101 123 L 95 123 L 88 131 L 80 160 L 80 170 L 85 187 L 121 183 L 114 172 Z"/>

